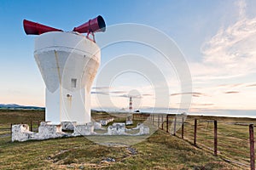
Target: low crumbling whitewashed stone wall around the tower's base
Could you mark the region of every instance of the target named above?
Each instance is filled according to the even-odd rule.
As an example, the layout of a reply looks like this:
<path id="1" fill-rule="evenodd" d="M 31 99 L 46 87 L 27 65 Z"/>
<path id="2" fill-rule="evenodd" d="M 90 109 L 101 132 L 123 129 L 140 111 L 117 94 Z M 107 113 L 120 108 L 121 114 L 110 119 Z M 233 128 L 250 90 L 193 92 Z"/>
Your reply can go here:
<path id="1" fill-rule="evenodd" d="M 149 127 L 143 124 L 138 125 L 133 129 L 126 129 L 125 123 L 113 123 L 112 126 L 108 127 L 108 133 L 95 133 L 95 127 L 102 129 L 102 125 L 99 122 L 91 122 L 82 125 L 78 125 L 76 122 L 64 122 L 62 125 L 67 128 L 71 128 L 73 125 L 73 133 L 64 133 L 61 129 L 61 124 L 52 124 L 51 122 L 41 122 L 38 127 L 38 133 L 32 133 L 29 131 L 29 126 L 26 124 L 19 124 L 12 126 L 12 141 L 26 141 L 26 140 L 43 140 L 43 139 L 55 139 L 61 137 L 75 137 L 82 135 L 144 135 L 149 134 Z M 132 131 L 139 129 L 139 133 L 131 134 L 126 131 Z"/>

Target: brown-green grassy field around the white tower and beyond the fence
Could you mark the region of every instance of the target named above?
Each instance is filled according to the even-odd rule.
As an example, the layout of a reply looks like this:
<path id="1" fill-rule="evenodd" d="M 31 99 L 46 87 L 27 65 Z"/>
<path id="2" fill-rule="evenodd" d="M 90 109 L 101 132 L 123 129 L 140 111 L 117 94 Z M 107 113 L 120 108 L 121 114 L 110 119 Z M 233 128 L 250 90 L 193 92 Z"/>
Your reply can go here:
<path id="1" fill-rule="evenodd" d="M 108 113 L 93 112 L 93 117 L 107 118 Z M 97 116 L 97 117 L 96 117 Z M 0 130 L 0 169 L 247 169 L 248 165 L 247 126 L 235 122 L 255 122 L 246 119 L 218 120 L 219 156 L 213 156 L 213 123 L 198 122 L 198 147 L 193 140 L 193 121 L 188 117 L 185 138 L 158 130 L 148 139 L 122 147 L 96 144 L 84 137 L 49 139 L 43 141 L 10 142 L 9 131 Z M 10 123 L 44 120 L 44 111 L 0 111 L 0 128 Z M 120 122 L 125 119 L 119 117 Z M 223 122 L 222 122 L 223 121 Z M 165 126 L 166 124 L 164 124 Z M 34 125 L 36 126 L 36 125 Z M 2 135 L 1 135 L 2 133 Z M 103 137 L 97 137 L 102 138 Z M 125 137 L 125 141 L 133 137 Z M 114 144 L 115 146 L 119 144 Z"/>

